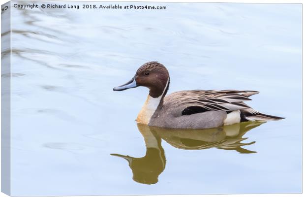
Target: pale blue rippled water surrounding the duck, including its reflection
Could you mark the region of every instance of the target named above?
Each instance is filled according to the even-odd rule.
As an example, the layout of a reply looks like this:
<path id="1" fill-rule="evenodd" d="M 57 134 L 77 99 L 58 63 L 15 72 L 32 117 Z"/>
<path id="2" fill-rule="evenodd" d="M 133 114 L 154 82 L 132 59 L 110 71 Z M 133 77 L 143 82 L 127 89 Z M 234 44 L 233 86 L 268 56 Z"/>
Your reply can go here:
<path id="1" fill-rule="evenodd" d="M 12 9 L 12 195 L 302 192 L 302 5 L 132 4 L 167 9 Z M 148 61 L 169 93 L 256 90 L 249 105 L 286 119 L 137 126 L 148 90 L 112 88 Z"/>

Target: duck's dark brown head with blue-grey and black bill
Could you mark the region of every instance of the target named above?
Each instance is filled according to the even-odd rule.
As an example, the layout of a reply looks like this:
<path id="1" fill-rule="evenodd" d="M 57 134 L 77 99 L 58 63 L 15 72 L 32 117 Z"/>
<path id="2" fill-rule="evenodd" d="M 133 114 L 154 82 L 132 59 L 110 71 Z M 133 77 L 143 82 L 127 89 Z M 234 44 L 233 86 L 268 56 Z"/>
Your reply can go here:
<path id="1" fill-rule="evenodd" d="M 148 62 L 140 66 L 134 77 L 127 83 L 115 87 L 114 91 L 127 90 L 144 86 L 150 89 L 150 96 L 158 98 L 165 95 L 169 86 L 169 73 L 165 66 L 158 62 Z M 165 94 L 164 94 L 165 93 Z"/>

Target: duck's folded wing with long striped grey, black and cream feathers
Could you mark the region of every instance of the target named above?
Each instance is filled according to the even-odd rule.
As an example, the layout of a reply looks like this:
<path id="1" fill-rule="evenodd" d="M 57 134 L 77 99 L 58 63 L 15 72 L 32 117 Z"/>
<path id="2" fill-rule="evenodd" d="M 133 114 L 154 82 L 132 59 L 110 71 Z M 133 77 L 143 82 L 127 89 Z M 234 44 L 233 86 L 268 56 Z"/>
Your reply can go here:
<path id="1" fill-rule="evenodd" d="M 234 111 L 253 109 L 244 103 L 251 100 L 248 97 L 258 94 L 257 91 L 237 90 L 189 90 L 172 93 L 164 98 L 164 103 L 170 103 L 181 110 L 181 115 L 190 115 L 206 111 Z M 253 110 L 253 113 L 256 112 Z"/>

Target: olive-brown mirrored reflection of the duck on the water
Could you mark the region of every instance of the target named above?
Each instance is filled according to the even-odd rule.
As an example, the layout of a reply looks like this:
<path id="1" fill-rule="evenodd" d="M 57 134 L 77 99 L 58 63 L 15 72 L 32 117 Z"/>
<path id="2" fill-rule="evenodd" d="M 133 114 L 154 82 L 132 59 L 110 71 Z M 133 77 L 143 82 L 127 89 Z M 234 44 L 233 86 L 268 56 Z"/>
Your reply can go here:
<path id="1" fill-rule="evenodd" d="M 158 176 L 165 169 L 165 152 L 161 145 L 161 139 L 170 145 L 184 150 L 200 150 L 218 148 L 236 150 L 240 153 L 256 153 L 242 148 L 255 143 L 242 143 L 247 138 L 243 135 L 251 129 L 260 126 L 264 122 L 244 122 L 220 128 L 205 130 L 177 130 L 159 127 L 149 127 L 137 124 L 139 131 L 144 137 L 146 154 L 141 158 L 128 155 L 111 154 L 125 159 L 133 173 L 133 180 L 138 183 L 155 184 Z"/>

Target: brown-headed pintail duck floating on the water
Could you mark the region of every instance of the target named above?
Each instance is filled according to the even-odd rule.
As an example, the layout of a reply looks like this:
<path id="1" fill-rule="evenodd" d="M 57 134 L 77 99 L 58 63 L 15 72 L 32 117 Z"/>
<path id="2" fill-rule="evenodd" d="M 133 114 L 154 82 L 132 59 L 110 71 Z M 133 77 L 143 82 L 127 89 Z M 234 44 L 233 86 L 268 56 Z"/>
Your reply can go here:
<path id="1" fill-rule="evenodd" d="M 149 89 L 136 122 L 171 129 L 211 129 L 241 122 L 267 122 L 284 119 L 254 110 L 244 103 L 258 91 L 185 90 L 167 95 L 170 75 L 159 62 L 140 66 L 127 83 L 113 88 L 124 91 L 136 87 Z"/>

